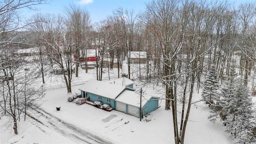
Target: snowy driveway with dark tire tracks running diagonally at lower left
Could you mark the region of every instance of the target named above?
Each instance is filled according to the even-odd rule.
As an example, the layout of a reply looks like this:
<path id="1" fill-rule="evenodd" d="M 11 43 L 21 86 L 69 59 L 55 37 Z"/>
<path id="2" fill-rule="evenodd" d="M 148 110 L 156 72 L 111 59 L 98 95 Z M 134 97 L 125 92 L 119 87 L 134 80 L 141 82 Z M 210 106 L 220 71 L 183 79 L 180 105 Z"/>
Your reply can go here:
<path id="1" fill-rule="evenodd" d="M 47 111 L 38 108 L 34 109 L 35 114 L 39 114 L 37 116 L 38 118 L 35 118 L 29 114 L 28 116 L 33 117 L 37 122 L 47 126 L 52 127 L 54 130 L 58 131 L 60 134 L 71 138 L 72 140 L 78 142 L 78 143 L 106 143 L 106 144 L 112 144 L 114 142 L 111 142 L 105 138 L 100 137 L 97 134 L 94 134 L 92 132 L 83 130 L 71 123 L 65 122 L 62 119 L 47 113 Z"/>

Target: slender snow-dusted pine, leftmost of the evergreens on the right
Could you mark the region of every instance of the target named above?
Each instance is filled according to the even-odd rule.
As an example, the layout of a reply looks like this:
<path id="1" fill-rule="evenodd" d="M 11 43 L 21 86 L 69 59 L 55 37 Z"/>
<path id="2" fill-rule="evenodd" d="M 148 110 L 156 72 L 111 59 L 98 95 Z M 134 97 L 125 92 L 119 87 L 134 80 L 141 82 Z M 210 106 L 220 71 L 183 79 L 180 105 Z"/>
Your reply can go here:
<path id="1" fill-rule="evenodd" d="M 214 103 L 215 100 L 218 99 L 218 87 L 219 82 L 217 79 L 217 70 L 214 65 L 212 65 L 209 74 L 206 77 L 204 82 L 204 89 L 202 92 L 202 98 L 209 103 L 209 107 Z"/>

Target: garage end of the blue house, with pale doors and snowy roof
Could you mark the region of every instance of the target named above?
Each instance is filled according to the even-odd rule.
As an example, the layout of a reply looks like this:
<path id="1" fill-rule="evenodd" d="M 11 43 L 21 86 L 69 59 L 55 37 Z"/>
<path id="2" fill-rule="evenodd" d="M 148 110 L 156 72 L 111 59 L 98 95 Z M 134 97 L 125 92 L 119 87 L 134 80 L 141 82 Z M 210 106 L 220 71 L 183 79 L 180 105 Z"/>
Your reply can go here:
<path id="1" fill-rule="evenodd" d="M 147 115 L 158 108 L 158 97 L 143 95 L 141 101 L 142 115 Z M 140 95 L 133 91 L 123 91 L 116 98 L 115 109 L 123 113 L 139 117 Z"/>

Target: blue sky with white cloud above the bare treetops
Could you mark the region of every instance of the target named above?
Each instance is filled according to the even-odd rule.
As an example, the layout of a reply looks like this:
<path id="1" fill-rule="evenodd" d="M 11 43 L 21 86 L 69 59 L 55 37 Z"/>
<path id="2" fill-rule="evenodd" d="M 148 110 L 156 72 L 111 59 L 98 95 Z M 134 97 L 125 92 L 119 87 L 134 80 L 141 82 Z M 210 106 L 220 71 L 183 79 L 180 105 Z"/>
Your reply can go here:
<path id="1" fill-rule="evenodd" d="M 1 0 L 0 0 L 1 1 Z M 212 0 L 214 1 L 214 0 Z M 244 2 L 253 2 L 256 0 L 229 0 L 230 4 L 239 5 Z M 99 22 L 113 14 L 113 11 L 122 6 L 124 9 L 133 9 L 136 13 L 143 12 L 146 3 L 150 0 L 51 0 L 49 4 L 36 6 L 38 11 L 22 11 L 22 16 L 29 18 L 35 13 L 63 13 L 65 6 L 75 4 L 85 8 L 91 15 L 92 22 Z"/>

